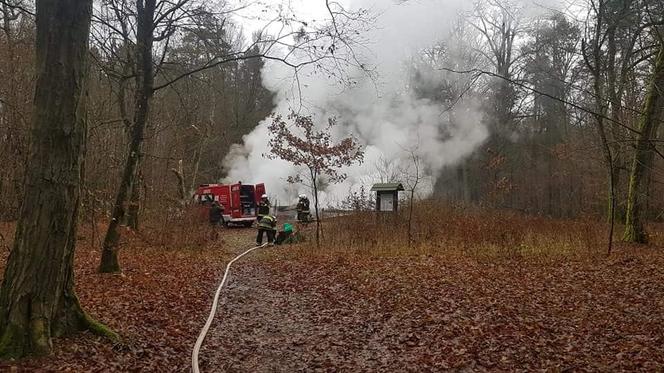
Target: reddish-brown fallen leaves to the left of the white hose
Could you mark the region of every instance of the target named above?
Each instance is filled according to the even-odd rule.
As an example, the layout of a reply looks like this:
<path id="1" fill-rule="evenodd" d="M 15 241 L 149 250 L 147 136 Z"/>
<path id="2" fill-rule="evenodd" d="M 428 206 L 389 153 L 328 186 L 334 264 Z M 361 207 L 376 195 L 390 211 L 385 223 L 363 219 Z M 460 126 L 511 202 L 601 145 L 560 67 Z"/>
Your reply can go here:
<path id="1" fill-rule="evenodd" d="M 246 241 L 246 232 L 224 231 Z M 113 345 L 90 333 L 54 340 L 43 358 L 0 361 L 0 371 L 183 372 L 203 325 L 215 284 L 230 256 L 209 245 L 150 247 L 130 241 L 120 253 L 122 274 L 98 274 L 97 247 L 79 241 L 76 289 L 84 309 L 125 339 Z M 5 253 L 6 255 L 6 253 Z M 2 261 L 4 263 L 4 260 Z"/>

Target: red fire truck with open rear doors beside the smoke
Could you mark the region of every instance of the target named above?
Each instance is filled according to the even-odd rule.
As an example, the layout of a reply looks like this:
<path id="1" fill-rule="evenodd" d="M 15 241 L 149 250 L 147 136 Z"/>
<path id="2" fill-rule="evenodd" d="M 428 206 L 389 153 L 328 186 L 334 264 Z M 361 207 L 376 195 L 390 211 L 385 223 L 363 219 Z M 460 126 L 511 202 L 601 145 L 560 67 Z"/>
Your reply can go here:
<path id="1" fill-rule="evenodd" d="M 201 184 L 194 200 L 205 207 L 205 216 L 212 201 L 224 207 L 224 223 L 250 227 L 258 215 L 257 207 L 265 194 L 265 184 Z"/>

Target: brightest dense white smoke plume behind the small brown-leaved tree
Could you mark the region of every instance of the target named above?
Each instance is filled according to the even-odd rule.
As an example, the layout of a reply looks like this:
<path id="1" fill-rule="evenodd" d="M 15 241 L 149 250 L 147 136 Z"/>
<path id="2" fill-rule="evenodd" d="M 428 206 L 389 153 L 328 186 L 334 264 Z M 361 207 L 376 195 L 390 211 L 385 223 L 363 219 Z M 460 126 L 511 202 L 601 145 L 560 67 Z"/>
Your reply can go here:
<path id="1" fill-rule="evenodd" d="M 377 181 L 378 163 L 389 164 L 395 170 L 409 169 L 411 161 L 406 150 L 416 150 L 426 176 L 435 180 L 445 166 L 470 155 L 488 136 L 482 114 L 471 99 L 456 103 L 455 120 L 451 122 L 446 112 L 449 108 L 418 99 L 409 87 L 413 66 L 409 61 L 423 48 L 445 40 L 459 13 L 471 10 L 471 1 L 411 0 L 396 4 L 388 0 L 353 0 L 348 5 L 350 9 L 362 7 L 378 14 L 375 28 L 365 35 L 371 50 L 365 58 L 375 66 L 377 80 L 358 75 L 358 84 L 347 88 L 304 71 L 300 74 L 300 90 L 294 90 L 293 72 L 287 66 L 269 62 L 262 74 L 266 87 L 276 93 L 277 113 L 285 115 L 304 102 L 304 108 L 299 109 L 305 114 L 313 114 L 320 123 L 335 115 L 340 124 L 337 135 L 353 135 L 364 146 L 363 164 L 344 170 L 348 179 L 321 193 L 323 205 L 339 201 L 351 188 L 364 185 L 368 189 Z M 431 74 L 431 79 L 442 76 Z M 264 182 L 268 194 L 282 203 L 291 203 L 299 192 L 309 191 L 286 181 L 298 172 L 292 165 L 263 157 L 269 152 L 270 121 L 266 118 L 244 137 L 243 144 L 232 149 L 224 160 L 228 169 L 225 181 Z M 399 172 L 395 172 L 397 178 Z M 430 193 L 432 182 L 423 188 L 425 194 Z"/>

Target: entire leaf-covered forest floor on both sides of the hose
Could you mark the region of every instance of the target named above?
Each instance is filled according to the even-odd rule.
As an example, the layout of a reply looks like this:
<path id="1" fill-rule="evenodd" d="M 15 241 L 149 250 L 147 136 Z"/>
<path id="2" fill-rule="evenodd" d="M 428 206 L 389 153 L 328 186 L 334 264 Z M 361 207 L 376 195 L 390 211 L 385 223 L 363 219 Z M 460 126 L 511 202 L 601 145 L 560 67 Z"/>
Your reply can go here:
<path id="1" fill-rule="evenodd" d="M 98 250 L 81 237 L 81 303 L 126 343 L 81 334 L 0 370 L 189 371 L 224 263 L 253 232 L 182 250 L 130 238 L 122 275 L 96 274 Z M 661 249 L 620 246 L 543 261 L 264 249 L 232 270 L 201 369 L 661 371 L 662 268 Z"/>

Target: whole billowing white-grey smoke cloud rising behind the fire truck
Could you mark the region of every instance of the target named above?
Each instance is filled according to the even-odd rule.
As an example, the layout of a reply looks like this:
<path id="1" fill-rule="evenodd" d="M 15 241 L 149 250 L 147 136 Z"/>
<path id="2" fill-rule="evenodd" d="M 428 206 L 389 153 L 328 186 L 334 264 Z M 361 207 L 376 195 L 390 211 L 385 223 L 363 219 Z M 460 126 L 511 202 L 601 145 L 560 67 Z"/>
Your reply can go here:
<path id="1" fill-rule="evenodd" d="M 355 50 L 375 74 L 349 70 L 350 84 L 346 84 L 311 66 L 300 71 L 294 84 L 292 70 L 268 62 L 262 75 L 265 86 L 275 93 L 275 112 L 285 115 L 299 110 L 313 114 L 322 124 L 335 116 L 341 124 L 338 135 L 353 135 L 366 147 L 365 162 L 352 167 L 344 183 L 325 189 L 327 203 L 335 204 L 349 190 L 384 178 L 379 163 L 391 168 L 394 177 L 406 174 L 410 165 L 402 149 L 414 146 L 429 181 L 421 194 L 429 195 L 441 172 L 470 156 L 490 133 L 484 99 L 472 78 L 440 71 L 443 66 L 466 69 L 482 63 L 473 50 L 476 41 L 461 39 L 470 27 L 462 19 L 475 11 L 475 5 L 466 1 L 353 1 L 347 5 L 376 16 L 363 34 L 365 48 Z M 535 17 L 557 2 L 511 5 L 519 13 L 513 17 Z M 446 97 L 428 94 L 441 91 Z M 303 187 L 288 185 L 286 179 L 299 170 L 263 157 L 269 122 L 269 118 L 261 122 L 242 144 L 233 147 L 224 161 L 225 180 L 265 181 L 272 193 L 290 201 Z"/>

